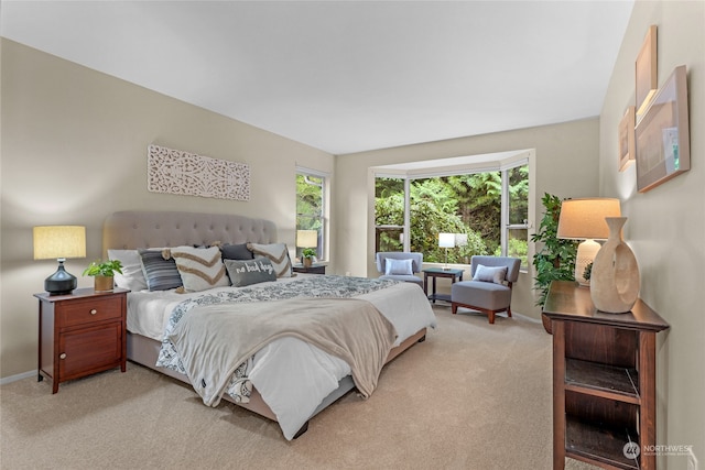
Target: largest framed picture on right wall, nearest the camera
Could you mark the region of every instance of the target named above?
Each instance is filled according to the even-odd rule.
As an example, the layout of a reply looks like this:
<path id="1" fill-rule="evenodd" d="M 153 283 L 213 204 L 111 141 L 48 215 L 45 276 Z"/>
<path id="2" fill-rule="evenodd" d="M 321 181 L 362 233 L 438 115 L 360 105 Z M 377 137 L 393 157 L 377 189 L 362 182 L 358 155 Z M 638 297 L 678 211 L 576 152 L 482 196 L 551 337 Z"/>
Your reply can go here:
<path id="1" fill-rule="evenodd" d="M 637 188 L 640 193 L 691 170 L 685 65 L 675 67 L 637 124 Z"/>

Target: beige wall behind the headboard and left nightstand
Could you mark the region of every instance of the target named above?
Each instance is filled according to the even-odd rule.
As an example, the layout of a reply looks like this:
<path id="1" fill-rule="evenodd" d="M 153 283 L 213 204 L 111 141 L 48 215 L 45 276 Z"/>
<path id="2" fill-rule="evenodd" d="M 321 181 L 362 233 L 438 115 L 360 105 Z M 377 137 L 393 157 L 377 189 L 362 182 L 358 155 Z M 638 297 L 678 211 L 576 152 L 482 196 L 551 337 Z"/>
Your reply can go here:
<path id="1" fill-rule="evenodd" d="M 265 217 L 294 244 L 295 165 L 333 172 L 327 153 L 2 40 L 0 373 L 36 369 L 36 299 L 55 261 L 32 260 L 32 227 L 84 225 L 79 286 L 100 256 L 106 216 L 126 209 Z M 248 163 L 250 201 L 147 190 L 150 143 Z"/>

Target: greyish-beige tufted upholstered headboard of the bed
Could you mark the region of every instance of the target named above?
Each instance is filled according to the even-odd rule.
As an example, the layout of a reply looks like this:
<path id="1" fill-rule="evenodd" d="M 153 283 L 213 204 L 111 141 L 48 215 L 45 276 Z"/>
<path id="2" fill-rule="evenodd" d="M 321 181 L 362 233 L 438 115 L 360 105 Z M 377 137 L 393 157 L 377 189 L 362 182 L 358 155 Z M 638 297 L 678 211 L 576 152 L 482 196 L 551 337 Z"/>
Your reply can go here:
<path id="1" fill-rule="evenodd" d="M 178 247 L 184 244 L 274 243 L 276 226 L 264 219 L 230 214 L 177 211 L 115 212 L 102 226 L 102 251 L 108 249 Z"/>

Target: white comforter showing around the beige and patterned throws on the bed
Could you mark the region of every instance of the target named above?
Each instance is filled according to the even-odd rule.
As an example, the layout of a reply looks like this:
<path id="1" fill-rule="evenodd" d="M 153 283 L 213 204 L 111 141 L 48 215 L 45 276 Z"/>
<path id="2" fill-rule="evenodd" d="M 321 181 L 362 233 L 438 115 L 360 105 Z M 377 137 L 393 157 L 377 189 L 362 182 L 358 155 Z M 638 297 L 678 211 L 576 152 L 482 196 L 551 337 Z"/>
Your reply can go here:
<path id="1" fill-rule="evenodd" d="M 301 275 L 302 277 L 304 275 Z M 281 282 L 295 282 L 280 278 Z M 259 284 L 267 288 L 272 283 Z M 252 286 L 250 286 L 252 287 Z M 221 287 L 209 293 L 232 289 Z M 169 317 L 180 303 L 203 293 L 135 292 L 129 295 L 128 329 L 133 334 L 162 340 Z M 436 319 L 419 286 L 400 283 L 358 296 L 371 302 L 392 323 L 398 332 L 394 346 Z M 318 348 L 295 338 L 280 338 L 262 348 L 253 360 L 248 378 L 276 415 L 284 437 L 292 439 L 322 401 L 350 374 L 349 365 Z"/>

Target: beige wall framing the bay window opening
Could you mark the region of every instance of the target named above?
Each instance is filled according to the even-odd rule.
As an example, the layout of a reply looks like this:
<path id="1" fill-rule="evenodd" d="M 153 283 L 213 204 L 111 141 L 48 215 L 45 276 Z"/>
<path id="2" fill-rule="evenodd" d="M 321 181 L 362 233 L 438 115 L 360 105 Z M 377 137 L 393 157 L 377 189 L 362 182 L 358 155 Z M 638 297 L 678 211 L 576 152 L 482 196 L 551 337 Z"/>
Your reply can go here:
<path id="1" fill-rule="evenodd" d="M 338 178 L 335 187 L 338 195 L 334 210 L 338 238 L 333 247 L 336 269 L 339 273 L 350 272 L 354 275 L 377 274 L 373 179 L 368 170 L 371 166 L 534 149 L 533 208 L 530 209 L 534 217 L 530 222 L 535 228 L 543 216 L 541 198 L 544 193 L 561 198 L 597 195 L 598 132 L 596 118 L 336 157 L 336 174 L 345 175 L 345 178 Z M 533 266 L 520 274 L 514 286 L 512 310 L 539 319 L 541 310 L 534 305 L 533 276 Z"/>

